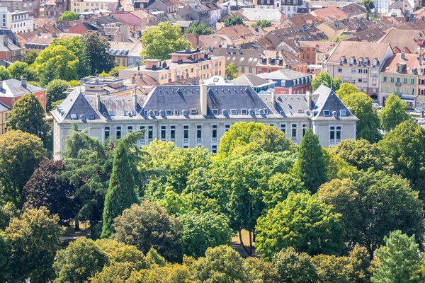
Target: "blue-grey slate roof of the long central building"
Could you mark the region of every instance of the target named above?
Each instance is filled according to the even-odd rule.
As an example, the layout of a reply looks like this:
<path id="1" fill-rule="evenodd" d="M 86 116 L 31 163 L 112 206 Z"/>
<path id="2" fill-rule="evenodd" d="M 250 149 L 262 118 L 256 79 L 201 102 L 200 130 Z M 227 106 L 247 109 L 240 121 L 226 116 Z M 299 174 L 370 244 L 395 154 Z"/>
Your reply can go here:
<path id="1" fill-rule="evenodd" d="M 74 88 L 64 102 L 52 111 L 52 115 L 59 123 L 229 118 L 358 120 L 334 91 L 326 86 L 320 86 L 312 93 L 310 105 L 307 95 L 259 95 L 251 86 L 206 86 L 207 113 L 202 115 L 201 87 L 157 86 L 148 96 L 115 97 L 84 96 L 79 88 Z"/>

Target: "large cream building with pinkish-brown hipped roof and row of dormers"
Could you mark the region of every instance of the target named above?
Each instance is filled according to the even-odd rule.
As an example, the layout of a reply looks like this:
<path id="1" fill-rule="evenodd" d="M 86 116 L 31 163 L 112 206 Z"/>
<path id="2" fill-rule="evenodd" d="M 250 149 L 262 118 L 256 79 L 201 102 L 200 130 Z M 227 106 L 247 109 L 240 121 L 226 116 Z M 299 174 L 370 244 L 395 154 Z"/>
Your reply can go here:
<path id="1" fill-rule="evenodd" d="M 323 63 L 324 71 L 333 78 L 340 76 L 344 83 L 352 83 L 370 98 L 382 103 L 382 99 L 378 98 L 379 71 L 392 55 L 388 43 L 342 41 L 329 52 Z"/>

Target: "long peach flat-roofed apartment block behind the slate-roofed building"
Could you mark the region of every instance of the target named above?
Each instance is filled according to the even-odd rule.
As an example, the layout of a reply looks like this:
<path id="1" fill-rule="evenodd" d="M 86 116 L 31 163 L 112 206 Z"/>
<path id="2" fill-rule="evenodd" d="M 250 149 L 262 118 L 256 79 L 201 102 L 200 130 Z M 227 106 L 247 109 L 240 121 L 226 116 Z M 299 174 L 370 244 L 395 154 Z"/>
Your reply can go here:
<path id="1" fill-rule="evenodd" d="M 147 74 L 159 84 L 164 84 L 181 79 L 208 79 L 225 75 L 225 57 L 211 56 L 203 50 L 182 50 L 170 55 L 169 60 L 144 59 L 142 66 L 122 69 L 120 78 Z"/>

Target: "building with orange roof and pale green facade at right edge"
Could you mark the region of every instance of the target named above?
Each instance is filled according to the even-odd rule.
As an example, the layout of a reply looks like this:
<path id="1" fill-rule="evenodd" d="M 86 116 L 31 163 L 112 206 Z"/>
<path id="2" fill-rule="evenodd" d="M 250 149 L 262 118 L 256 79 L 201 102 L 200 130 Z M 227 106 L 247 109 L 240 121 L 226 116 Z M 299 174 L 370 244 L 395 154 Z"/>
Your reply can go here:
<path id="1" fill-rule="evenodd" d="M 417 58 L 417 54 L 396 53 L 387 59 L 380 70 L 382 104 L 385 105 L 387 96 L 394 93 L 407 103 L 407 108 L 416 107 L 418 74 L 423 76 L 424 73 L 421 71 L 425 68 L 419 64 Z M 424 91 L 421 93 L 421 100 L 425 100 Z"/>

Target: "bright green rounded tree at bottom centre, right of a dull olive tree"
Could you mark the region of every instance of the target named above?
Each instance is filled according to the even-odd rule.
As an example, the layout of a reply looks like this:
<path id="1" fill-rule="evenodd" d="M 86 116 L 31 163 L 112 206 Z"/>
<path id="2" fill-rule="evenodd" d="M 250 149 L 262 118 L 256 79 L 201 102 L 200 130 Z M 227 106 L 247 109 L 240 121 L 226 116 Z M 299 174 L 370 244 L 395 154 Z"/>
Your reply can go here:
<path id="1" fill-rule="evenodd" d="M 189 212 L 180 216 L 179 221 L 183 252 L 195 258 L 204 256 L 207 248 L 229 245 L 234 234 L 224 214 Z"/>

